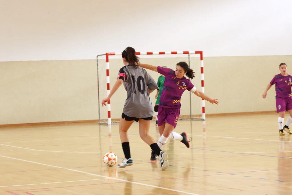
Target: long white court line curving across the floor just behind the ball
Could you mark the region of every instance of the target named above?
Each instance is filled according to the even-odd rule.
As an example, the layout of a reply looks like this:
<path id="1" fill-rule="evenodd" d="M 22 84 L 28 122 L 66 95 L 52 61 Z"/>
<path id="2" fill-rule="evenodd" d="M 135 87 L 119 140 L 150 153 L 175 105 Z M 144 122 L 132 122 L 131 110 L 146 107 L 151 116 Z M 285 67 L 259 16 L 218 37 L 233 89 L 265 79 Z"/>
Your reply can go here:
<path id="1" fill-rule="evenodd" d="M 70 151 L 52 151 L 52 150 L 37 150 L 37 149 L 31 149 L 31 148 L 24 148 L 19 146 L 11 146 L 6 144 L 0 144 L 2 146 L 9 146 L 13 148 L 20 148 L 25 150 L 33 150 L 33 151 L 40 151 L 40 152 L 63 152 L 63 153 L 90 153 L 90 154 L 97 154 L 101 152 L 70 152 Z M 292 151 L 265 151 L 265 152 L 187 152 L 187 153 L 170 153 L 168 154 L 238 154 L 238 153 L 279 153 L 279 152 L 292 152 Z M 123 154 L 123 152 L 115 152 L 117 154 Z M 132 154 L 149 154 L 149 152 L 131 152 Z"/>

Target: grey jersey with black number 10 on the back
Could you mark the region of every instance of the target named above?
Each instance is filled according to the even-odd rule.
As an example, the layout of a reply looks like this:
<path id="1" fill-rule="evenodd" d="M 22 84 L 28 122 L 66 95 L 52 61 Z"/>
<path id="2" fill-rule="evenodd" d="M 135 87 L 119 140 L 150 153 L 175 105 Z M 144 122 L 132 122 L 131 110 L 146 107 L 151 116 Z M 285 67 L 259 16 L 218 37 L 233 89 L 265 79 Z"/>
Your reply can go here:
<path id="1" fill-rule="evenodd" d="M 158 89 L 155 80 L 140 66 L 126 65 L 119 71 L 118 79 L 123 79 L 127 99 L 123 113 L 130 117 L 147 118 L 153 116 L 153 106 L 148 89 Z"/>

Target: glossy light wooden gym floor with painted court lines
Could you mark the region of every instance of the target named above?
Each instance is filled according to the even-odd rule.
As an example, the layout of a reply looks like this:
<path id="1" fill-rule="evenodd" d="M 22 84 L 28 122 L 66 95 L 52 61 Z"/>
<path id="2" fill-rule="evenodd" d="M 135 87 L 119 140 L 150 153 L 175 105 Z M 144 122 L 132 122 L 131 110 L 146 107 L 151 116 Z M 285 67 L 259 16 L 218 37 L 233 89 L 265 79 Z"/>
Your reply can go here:
<path id="1" fill-rule="evenodd" d="M 168 140 L 165 171 L 150 163 L 137 123 L 128 131 L 134 165 L 126 168 L 102 162 L 110 149 L 124 157 L 117 124 L 111 134 L 97 123 L 0 128 L 0 194 L 291 194 L 292 135 L 279 136 L 277 118 L 180 120 L 175 131 L 193 141 L 187 149 Z M 159 138 L 154 122 L 150 134 Z"/>

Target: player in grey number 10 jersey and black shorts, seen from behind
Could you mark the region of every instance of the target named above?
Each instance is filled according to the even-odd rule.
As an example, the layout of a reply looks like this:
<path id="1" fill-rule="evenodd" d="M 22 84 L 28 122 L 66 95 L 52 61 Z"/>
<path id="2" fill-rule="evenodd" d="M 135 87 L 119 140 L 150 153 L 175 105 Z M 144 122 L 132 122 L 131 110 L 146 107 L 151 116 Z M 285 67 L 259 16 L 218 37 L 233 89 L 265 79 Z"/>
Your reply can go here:
<path id="1" fill-rule="evenodd" d="M 137 121 L 141 139 L 159 156 L 161 169 L 165 170 L 168 168 L 167 153 L 161 151 L 153 137 L 149 135 L 150 121 L 153 116 L 149 94 L 158 89 L 157 84 L 146 70 L 139 66 L 139 58 L 134 48 L 127 47 L 122 53 L 122 58 L 125 66 L 120 69 L 118 79 L 109 95 L 102 100 L 102 106 L 105 106 L 121 84 L 124 84 L 127 99 L 120 119 L 119 133 L 125 158 L 117 167 L 124 168 L 133 165 L 127 131 L 133 122 Z"/>

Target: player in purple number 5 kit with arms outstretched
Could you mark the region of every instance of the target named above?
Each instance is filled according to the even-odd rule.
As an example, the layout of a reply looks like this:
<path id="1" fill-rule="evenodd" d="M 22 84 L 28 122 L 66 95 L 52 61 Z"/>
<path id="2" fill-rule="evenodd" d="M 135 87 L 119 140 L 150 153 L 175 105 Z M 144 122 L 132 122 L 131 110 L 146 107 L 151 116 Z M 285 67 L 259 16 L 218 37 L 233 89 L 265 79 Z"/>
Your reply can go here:
<path id="1" fill-rule="evenodd" d="M 158 108 L 158 129 L 161 135 L 157 143 L 158 146 L 162 148 L 170 136 L 173 139 L 180 140 L 189 148 L 190 144 L 187 140 L 187 134 L 185 132 L 178 134 L 173 131 L 180 115 L 180 100 L 183 92 L 187 89 L 212 104 L 218 104 L 217 99 L 211 99 L 196 89 L 192 82 L 185 77 L 185 75 L 190 79 L 194 77 L 194 71 L 185 62 L 177 63 L 175 71 L 170 68 L 162 68 L 149 64 L 140 64 L 140 66 L 165 76 L 164 88 L 161 93 Z M 153 151 L 150 160 L 156 161 L 156 155 Z"/>

